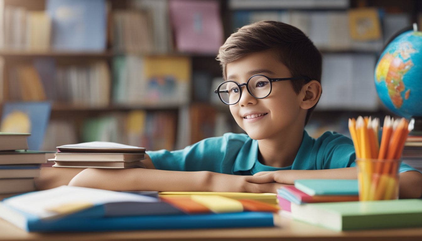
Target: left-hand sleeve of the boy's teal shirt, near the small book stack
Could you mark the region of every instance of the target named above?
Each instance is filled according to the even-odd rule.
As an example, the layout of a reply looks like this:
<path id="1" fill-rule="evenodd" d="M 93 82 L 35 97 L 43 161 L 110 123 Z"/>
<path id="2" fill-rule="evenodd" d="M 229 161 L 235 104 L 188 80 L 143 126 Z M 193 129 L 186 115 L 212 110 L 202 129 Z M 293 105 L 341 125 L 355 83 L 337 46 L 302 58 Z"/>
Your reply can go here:
<path id="1" fill-rule="evenodd" d="M 177 151 L 148 151 L 156 169 L 168 171 L 214 171 L 221 172 L 226 154 L 225 137 L 213 137 L 199 141 Z"/>

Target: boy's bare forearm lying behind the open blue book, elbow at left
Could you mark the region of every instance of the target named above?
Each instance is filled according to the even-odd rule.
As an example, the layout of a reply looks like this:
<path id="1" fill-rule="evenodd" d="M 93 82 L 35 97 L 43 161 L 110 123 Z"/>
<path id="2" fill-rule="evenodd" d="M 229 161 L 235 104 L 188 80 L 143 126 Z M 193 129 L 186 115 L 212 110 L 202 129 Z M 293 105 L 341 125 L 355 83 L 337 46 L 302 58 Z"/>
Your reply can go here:
<path id="1" fill-rule="evenodd" d="M 163 171 L 144 168 L 120 170 L 87 168 L 69 185 L 115 191 L 201 191 L 201 192 L 276 192 L 282 184 L 254 184 L 246 176 L 209 171 Z"/>

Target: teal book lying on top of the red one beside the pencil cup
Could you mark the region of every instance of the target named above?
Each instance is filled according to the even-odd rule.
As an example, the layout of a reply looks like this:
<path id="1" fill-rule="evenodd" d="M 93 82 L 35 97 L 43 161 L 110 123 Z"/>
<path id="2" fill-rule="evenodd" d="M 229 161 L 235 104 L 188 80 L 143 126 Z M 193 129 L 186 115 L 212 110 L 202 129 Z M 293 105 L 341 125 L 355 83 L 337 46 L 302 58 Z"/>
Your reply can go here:
<path id="1" fill-rule="evenodd" d="M 310 196 L 315 195 L 359 195 L 356 179 L 301 179 L 295 187 Z"/>

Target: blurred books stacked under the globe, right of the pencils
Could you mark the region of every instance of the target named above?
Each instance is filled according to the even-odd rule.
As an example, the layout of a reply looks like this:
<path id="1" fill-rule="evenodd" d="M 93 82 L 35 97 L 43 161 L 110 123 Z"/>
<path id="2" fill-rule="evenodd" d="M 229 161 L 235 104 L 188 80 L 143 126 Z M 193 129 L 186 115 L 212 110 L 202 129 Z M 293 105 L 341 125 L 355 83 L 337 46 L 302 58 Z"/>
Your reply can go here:
<path id="1" fill-rule="evenodd" d="M 404 163 L 422 172 L 422 134 L 407 137 L 402 158 Z"/>

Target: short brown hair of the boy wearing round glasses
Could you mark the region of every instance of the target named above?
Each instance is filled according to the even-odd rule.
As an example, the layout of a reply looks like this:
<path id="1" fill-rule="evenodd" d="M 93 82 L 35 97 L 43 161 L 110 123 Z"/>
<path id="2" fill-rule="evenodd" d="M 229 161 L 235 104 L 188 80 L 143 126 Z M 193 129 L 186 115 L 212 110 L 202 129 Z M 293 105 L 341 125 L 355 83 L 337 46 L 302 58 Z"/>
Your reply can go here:
<path id="1" fill-rule="evenodd" d="M 293 77 L 308 77 L 321 82 L 322 57 L 314 43 L 297 27 L 276 21 L 243 26 L 227 38 L 216 57 L 222 66 L 224 79 L 227 78 L 228 63 L 246 54 L 268 49 L 274 49 L 280 62 L 289 68 Z M 290 82 L 296 94 L 305 84 L 305 81 Z M 315 106 L 308 110 L 305 125 Z"/>

